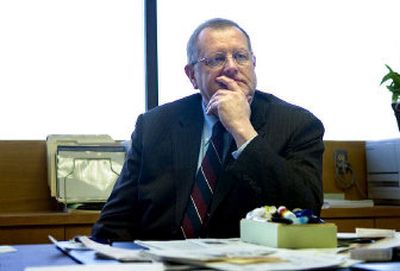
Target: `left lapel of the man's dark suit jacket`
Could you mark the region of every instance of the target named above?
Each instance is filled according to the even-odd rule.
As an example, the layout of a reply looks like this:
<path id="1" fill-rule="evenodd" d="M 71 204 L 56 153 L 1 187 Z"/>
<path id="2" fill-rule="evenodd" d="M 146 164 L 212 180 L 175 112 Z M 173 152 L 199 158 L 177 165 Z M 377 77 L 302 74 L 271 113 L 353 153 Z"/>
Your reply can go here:
<path id="1" fill-rule="evenodd" d="M 173 131 L 175 191 L 176 191 L 176 226 L 179 227 L 185 211 L 188 195 L 191 193 L 200 150 L 203 129 L 201 96 L 195 96 L 187 110 L 178 117 Z"/>

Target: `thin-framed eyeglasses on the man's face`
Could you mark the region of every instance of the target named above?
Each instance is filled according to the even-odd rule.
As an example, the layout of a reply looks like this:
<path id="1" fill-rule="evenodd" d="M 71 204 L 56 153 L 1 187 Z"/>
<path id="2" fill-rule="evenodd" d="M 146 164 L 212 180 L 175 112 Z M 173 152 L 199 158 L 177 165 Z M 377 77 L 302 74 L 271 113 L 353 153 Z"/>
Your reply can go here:
<path id="1" fill-rule="evenodd" d="M 236 62 L 236 64 L 240 66 L 248 65 L 250 63 L 251 56 L 252 53 L 247 51 L 238 51 L 232 53 L 232 59 Z M 199 58 L 196 62 L 193 62 L 192 64 L 194 65 L 201 62 L 210 68 L 220 68 L 225 65 L 227 59 L 228 57 L 225 53 L 218 52 L 209 57 Z"/>

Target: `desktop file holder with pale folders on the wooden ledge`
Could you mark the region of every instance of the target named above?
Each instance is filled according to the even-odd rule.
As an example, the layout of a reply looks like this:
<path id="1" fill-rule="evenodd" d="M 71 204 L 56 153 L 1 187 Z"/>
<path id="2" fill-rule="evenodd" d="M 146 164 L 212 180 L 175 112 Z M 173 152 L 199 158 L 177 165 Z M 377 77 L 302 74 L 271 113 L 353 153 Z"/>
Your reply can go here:
<path id="1" fill-rule="evenodd" d="M 49 135 L 46 145 L 51 196 L 67 207 L 101 206 L 121 172 L 126 147 L 108 135 Z"/>

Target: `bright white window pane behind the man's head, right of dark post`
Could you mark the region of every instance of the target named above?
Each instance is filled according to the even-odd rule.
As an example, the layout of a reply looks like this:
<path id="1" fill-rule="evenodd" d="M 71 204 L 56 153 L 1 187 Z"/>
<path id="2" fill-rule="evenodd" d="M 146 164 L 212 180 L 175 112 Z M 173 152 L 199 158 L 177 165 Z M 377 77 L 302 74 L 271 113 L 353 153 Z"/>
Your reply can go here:
<path id="1" fill-rule="evenodd" d="M 241 24 L 257 57 L 258 88 L 311 110 L 325 139 L 398 137 L 384 64 L 400 72 L 400 1 L 158 1 L 160 103 L 195 92 L 186 42 L 212 17 Z M 182 10 L 183 12 L 178 12 Z"/>

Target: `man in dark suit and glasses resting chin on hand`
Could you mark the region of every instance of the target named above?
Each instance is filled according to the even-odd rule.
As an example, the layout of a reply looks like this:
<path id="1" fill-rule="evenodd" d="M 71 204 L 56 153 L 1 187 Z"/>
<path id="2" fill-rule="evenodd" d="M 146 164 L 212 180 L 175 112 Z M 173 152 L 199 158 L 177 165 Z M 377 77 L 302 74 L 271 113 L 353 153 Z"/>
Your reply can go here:
<path id="1" fill-rule="evenodd" d="M 138 117 L 125 165 L 92 237 L 189 237 L 184 216 L 216 122 L 226 129 L 223 169 L 201 229 L 190 237 L 238 237 L 240 219 L 264 205 L 318 215 L 322 123 L 303 108 L 256 91 L 256 59 L 249 36 L 236 23 L 203 23 L 187 54 L 185 72 L 200 94 Z"/>

